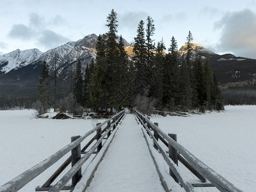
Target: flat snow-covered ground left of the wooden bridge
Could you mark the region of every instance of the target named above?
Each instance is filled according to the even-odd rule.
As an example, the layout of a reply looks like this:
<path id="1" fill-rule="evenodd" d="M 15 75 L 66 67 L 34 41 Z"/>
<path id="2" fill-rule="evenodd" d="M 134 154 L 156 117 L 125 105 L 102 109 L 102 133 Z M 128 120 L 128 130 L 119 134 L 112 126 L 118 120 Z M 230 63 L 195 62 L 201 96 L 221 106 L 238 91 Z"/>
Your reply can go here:
<path id="1" fill-rule="evenodd" d="M 0 186 L 65 147 L 71 136 L 83 135 L 103 121 L 36 119 L 33 113 L 33 110 L 0 111 Z M 42 186 L 69 155 L 20 191 L 35 191 L 36 186 Z"/>

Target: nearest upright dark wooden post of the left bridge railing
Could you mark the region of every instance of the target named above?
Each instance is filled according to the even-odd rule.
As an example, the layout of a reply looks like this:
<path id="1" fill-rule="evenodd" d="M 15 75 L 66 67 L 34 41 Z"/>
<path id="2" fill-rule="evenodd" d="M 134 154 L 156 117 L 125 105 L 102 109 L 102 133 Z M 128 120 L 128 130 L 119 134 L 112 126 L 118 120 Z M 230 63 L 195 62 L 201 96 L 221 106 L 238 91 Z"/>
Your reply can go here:
<path id="1" fill-rule="evenodd" d="M 71 138 L 71 142 L 77 140 L 78 138 L 80 138 L 80 136 L 73 136 Z M 72 166 L 74 166 L 77 163 L 77 161 L 79 161 L 79 159 L 81 159 L 81 144 L 77 145 L 77 147 L 71 150 Z M 81 177 L 82 177 L 82 169 L 80 168 L 77 171 L 77 173 L 72 177 L 72 186 L 76 186 L 77 182 L 79 181 L 79 179 L 81 179 Z"/>

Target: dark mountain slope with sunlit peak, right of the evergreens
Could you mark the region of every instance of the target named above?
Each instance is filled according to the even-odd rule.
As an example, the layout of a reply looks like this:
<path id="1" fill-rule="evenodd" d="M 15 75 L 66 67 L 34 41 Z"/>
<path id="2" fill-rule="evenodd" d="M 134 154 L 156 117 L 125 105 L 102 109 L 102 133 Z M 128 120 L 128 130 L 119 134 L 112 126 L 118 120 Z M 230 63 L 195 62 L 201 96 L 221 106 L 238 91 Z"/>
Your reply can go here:
<path id="1" fill-rule="evenodd" d="M 223 88 L 227 86 L 254 86 L 256 81 L 256 60 L 236 57 L 233 54 L 216 54 L 200 45 L 192 45 L 192 58 L 201 56 L 202 60 L 209 58 L 210 66 L 216 73 Z M 180 48 L 181 57 L 186 57 L 186 45 Z M 243 82 L 241 84 L 241 82 Z"/>

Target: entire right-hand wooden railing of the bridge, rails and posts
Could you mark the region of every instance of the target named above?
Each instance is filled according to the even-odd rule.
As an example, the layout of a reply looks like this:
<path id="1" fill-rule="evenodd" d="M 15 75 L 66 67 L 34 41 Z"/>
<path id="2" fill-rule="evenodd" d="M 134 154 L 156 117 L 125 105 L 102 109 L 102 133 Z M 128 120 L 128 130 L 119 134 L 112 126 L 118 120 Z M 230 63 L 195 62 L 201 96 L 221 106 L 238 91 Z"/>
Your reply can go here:
<path id="1" fill-rule="evenodd" d="M 154 141 L 154 148 L 158 150 L 166 163 L 170 168 L 170 175 L 173 179 L 178 182 L 186 191 L 194 191 L 194 187 L 209 187 L 214 186 L 220 191 L 230 191 L 236 192 L 241 191 L 237 189 L 232 183 L 227 179 L 222 177 L 220 174 L 216 173 L 214 170 L 209 168 L 206 164 L 196 158 L 191 152 L 186 148 L 182 147 L 177 143 L 175 134 L 166 134 L 164 131 L 159 129 L 157 123 L 153 123 L 150 119 L 140 113 L 140 111 L 133 109 L 133 113 L 138 118 L 139 122 L 145 128 L 145 131 Z M 160 144 L 160 141 L 163 142 L 166 147 L 168 147 L 168 154 L 166 150 L 163 149 L 163 145 Z M 178 160 L 180 163 L 184 164 L 198 179 L 202 182 L 201 184 L 191 184 L 188 179 L 181 177 L 179 171 L 177 170 Z M 205 183 L 207 180 L 209 182 Z"/>

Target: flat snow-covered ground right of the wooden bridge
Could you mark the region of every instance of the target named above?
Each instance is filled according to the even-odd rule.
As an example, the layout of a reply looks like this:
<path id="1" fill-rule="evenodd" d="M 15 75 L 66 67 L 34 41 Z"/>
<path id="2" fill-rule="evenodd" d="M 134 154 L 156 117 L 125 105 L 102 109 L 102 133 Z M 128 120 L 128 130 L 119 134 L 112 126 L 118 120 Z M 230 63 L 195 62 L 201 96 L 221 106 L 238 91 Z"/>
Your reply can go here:
<path id="1" fill-rule="evenodd" d="M 152 116 L 152 122 L 237 188 L 255 191 L 256 106 L 225 106 L 222 113 Z M 181 164 L 181 163 L 180 163 Z M 180 166 L 179 164 L 179 166 Z M 198 191 L 218 191 L 213 188 Z"/>

